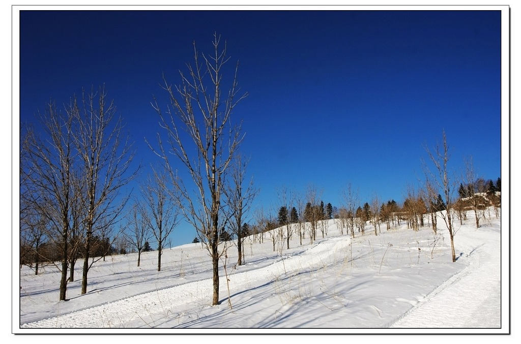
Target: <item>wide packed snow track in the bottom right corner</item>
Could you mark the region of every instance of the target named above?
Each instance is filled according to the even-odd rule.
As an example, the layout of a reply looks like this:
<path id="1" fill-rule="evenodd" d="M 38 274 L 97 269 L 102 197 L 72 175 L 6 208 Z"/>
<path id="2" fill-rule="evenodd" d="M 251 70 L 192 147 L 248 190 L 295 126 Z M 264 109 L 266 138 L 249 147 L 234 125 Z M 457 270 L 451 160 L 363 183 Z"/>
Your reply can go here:
<path id="1" fill-rule="evenodd" d="M 480 228 L 472 235 L 462 233 L 458 236 L 459 233 L 456 233 L 454 245 L 456 252 L 461 252 L 458 259 L 468 259 L 469 265 L 447 279 L 389 327 L 500 328 L 500 234 L 491 237 L 489 231 L 489 228 Z"/>

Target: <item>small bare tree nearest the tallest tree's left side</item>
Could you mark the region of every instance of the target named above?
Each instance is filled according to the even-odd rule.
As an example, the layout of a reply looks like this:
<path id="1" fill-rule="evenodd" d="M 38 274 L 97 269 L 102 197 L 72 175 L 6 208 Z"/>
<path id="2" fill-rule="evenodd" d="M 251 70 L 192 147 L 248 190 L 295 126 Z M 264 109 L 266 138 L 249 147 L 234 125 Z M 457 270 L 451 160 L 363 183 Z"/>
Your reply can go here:
<path id="1" fill-rule="evenodd" d="M 157 271 L 161 271 L 161 256 L 169 235 L 178 224 L 178 208 L 167 186 L 167 171 L 154 170 L 148 175 L 141 194 L 141 218 L 157 241 Z M 145 240 L 146 241 L 146 240 Z"/>

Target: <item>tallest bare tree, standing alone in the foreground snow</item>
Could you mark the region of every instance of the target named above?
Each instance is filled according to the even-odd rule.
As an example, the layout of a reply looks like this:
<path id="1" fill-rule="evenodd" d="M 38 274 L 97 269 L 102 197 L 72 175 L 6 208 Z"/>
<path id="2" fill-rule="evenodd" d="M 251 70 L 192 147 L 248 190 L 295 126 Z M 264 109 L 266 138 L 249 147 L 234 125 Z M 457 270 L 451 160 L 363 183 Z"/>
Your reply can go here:
<path id="1" fill-rule="evenodd" d="M 218 247 L 219 234 L 226 224 L 221 201 L 226 172 L 243 139 L 240 124 L 231 123 L 231 114 L 246 94 L 238 94 L 237 63 L 228 95 L 221 98 L 224 68 L 229 57 L 226 43 L 221 49 L 217 34 L 213 45 L 213 55 L 207 56 L 200 55 L 194 43 L 194 65 L 187 65 L 188 75 L 180 72 L 181 85 L 172 88 L 163 77 L 163 88 L 170 98 L 166 113 L 156 99 L 153 107 L 168 136 L 165 145 L 159 138 L 158 155 L 170 171 L 174 194 L 185 219 L 196 228 L 212 258 L 212 305 L 216 305 L 219 303 L 219 257 L 222 254 Z M 192 188 L 178 176 L 170 153 L 188 172 L 197 195 L 193 195 Z"/>

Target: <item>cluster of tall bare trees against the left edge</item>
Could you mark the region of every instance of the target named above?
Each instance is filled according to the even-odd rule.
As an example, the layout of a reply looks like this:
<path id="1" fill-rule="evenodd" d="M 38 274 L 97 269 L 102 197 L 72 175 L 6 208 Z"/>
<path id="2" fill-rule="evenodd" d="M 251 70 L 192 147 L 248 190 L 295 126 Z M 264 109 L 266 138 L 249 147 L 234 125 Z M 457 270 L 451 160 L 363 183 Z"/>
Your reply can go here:
<path id="1" fill-rule="evenodd" d="M 34 248 L 21 253 L 30 251 L 37 261 L 59 255 L 59 300 L 66 298 L 79 257 L 85 294 L 89 269 L 97 254 L 108 253 L 109 232 L 129 198 L 123 187 L 137 173 L 129 135 L 103 87 L 82 96 L 71 98 L 64 111 L 50 101 L 38 129 L 21 126 L 20 238 L 21 246 Z M 48 245 L 55 256 L 44 253 Z"/>

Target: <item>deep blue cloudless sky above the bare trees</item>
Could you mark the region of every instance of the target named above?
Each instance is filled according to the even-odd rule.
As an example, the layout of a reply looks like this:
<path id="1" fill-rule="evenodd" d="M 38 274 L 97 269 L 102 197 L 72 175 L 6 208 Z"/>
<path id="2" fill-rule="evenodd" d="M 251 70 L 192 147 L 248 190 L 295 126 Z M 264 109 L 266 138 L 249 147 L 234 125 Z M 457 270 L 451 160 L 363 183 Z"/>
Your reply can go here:
<path id="1" fill-rule="evenodd" d="M 179 83 L 193 42 L 210 53 L 220 34 L 249 94 L 233 115 L 261 188 L 254 208 L 309 183 L 333 206 L 348 183 L 362 203 L 402 201 L 442 130 L 454 169 L 472 156 L 485 179 L 501 175 L 500 11 L 49 9 L 20 12 L 20 120 L 104 84 L 145 167 L 162 73 Z M 174 245 L 195 236 L 182 227 Z"/>

